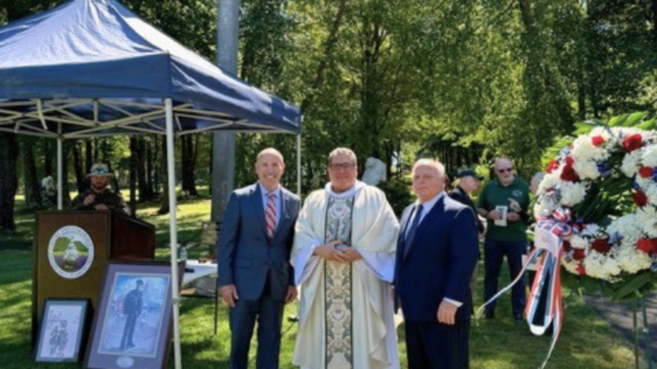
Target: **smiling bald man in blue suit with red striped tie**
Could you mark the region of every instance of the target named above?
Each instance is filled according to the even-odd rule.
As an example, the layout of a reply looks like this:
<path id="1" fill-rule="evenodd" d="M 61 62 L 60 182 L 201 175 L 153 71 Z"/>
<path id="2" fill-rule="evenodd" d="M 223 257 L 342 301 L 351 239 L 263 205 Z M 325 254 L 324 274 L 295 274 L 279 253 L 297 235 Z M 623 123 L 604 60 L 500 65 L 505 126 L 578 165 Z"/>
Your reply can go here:
<path id="1" fill-rule="evenodd" d="M 258 369 L 279 367 L 284 305 L 296 298 L 290 250 L 299 197 L 279 184 L 285 171 L 275 149 L 258 154 L 258 183 L 231 194 L 217 249 L 219 294 L 231 325 L 229 368 L 246 369 L 258 320 Z"/>

